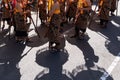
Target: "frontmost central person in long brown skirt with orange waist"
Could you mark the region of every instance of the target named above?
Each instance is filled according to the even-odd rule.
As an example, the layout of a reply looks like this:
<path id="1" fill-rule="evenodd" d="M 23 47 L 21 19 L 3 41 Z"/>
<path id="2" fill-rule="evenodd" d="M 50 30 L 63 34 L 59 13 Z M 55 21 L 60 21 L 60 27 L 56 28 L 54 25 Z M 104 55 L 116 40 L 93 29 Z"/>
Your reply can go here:
<path id="1" fill-rule="evenodd" d="M 61 16 L 60 16 L 60 3 L 57 0 L 53 0 L 54 3 L 51 6 L 49 11 L 50 24 L 49 24 L 49 31 L 48 31 L 48 39 L 49 39 L 49 49 L 51 50 L 59 50 L 60 42 L 60 23 L 61 23 Z M 55 46 L 54 46 L 55 44 Z"/>

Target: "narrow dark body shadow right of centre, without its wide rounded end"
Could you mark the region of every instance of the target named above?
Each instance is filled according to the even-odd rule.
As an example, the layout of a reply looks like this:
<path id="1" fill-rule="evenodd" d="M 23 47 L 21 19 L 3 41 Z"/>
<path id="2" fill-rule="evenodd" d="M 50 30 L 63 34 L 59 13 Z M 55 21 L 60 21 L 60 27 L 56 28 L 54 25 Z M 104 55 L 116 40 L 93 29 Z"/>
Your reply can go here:
<path id="1" fill-rule="evenodd" d="M 98 62 L 99 57 L 95 55 L 94 49 L 90 46 L 88 40 L 89 40 L 88 35 L 85 36 L 84 40 L 67 37 L 67 41 L 70 44 L 76 45 L 82 51 L 84 55 L 85 65 L 87 67 L 93 67 L 94 63 Z"/>

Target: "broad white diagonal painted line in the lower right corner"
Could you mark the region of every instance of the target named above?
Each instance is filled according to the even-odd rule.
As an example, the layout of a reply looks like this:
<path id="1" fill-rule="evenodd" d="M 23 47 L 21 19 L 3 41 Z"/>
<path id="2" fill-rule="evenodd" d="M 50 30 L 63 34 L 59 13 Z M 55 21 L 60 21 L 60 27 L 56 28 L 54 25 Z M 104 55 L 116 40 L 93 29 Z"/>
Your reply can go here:
<path id="1" fill-rule="evenodd" d="M 112 64 L 109 66 L 109 68 L 107 69 L 106 72 L 103 73 L 103 75 L 100 77 L 99 80 L 106 80 L 107 77 L 111 74 L 111 72 L 113 71 L 113 69 L 116 67 L 116 65 L 118 64 L 118 62 L 120 61 L 120 53 L 117 55 L 117 57 L 114 59 L 114 61 L 112 62 Z"/>

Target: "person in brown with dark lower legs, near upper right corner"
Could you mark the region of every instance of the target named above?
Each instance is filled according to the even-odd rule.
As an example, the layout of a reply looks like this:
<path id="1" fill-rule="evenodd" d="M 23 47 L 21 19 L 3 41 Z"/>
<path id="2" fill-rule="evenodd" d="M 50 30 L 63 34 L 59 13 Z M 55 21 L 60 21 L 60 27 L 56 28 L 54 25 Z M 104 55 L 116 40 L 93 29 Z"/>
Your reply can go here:
<path id="1" fill-rule="evenodd" d="M 100 0 L 100 9 L 98 16 L 100 18 L 100 25 L 102 28 L 107 27 L 107 23 L 109 21 L 109 11 L 111 8 L 111 1 L 110 0 Z"/>

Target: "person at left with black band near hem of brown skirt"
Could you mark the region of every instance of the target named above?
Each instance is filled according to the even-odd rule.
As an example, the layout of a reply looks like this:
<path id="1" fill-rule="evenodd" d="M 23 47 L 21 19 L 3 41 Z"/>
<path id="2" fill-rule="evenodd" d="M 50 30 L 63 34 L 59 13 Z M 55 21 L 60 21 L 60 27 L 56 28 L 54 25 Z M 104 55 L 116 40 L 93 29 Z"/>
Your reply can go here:
<path id="1" fill-rule="evenodd" d="M 16 30 L 15 30 L 16 42 L 21 42 L 21 41 L 29 42 L 29 38 L 28 38 L 29 24 L 26 23 L 25 20 L 26 12 L 23 9 L 24 9 L 24 5 L 22 0 L 17 0 L 14 7 L 14 18 L 16 24 Z"/>

